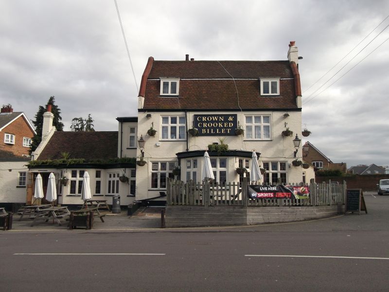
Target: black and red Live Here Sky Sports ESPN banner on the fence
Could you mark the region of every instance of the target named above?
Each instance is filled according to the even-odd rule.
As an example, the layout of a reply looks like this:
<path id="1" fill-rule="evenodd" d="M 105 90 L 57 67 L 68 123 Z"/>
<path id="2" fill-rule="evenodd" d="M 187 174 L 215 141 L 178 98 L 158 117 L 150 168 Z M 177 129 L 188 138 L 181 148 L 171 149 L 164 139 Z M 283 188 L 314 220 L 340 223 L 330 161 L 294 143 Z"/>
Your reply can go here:
<path id="1" fill-rule="evenodd" d="M 248 185 L 248 197 L 251 199 L 307 199 L 308 196 L 308 185 Z"/>

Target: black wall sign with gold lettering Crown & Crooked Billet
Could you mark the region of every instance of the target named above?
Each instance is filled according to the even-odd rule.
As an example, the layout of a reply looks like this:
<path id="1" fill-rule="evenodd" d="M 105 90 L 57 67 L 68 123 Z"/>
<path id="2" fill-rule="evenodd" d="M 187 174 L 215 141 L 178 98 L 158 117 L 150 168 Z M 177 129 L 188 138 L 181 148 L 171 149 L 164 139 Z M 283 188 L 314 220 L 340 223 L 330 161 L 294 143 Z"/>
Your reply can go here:
<path id="1" fill-rule="evenodd" d="M 199 136 L 232 136 L 238 128 L 236 114 L 195 114 L 193 122 Z"/>

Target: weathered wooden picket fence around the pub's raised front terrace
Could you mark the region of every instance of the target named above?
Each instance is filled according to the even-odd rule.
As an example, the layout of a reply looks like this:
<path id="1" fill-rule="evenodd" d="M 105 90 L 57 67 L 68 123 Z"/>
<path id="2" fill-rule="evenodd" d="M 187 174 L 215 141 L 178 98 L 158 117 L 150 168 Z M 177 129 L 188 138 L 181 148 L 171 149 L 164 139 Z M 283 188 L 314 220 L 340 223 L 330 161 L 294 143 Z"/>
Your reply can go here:
<path id="1" fill-rule="evenodd" d="M 289 183 L 289 185 L 300 185 Z M 251 199 L 247 195 L 248 181 L 242 183 L 216 183 L 168 180 L 168 206 L 330 206 L 344 204 L 346 183 L 309 184 L 310 194 L 307 199 Z"/>

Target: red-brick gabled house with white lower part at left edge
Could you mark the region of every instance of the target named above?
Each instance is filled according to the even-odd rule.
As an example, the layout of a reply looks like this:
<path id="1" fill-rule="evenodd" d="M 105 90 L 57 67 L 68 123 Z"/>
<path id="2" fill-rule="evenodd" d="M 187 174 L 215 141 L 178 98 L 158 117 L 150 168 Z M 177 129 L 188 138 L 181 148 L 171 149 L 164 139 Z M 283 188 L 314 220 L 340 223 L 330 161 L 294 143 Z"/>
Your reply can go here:
<path id="1" fill-rule="evenodd" d="M 0 112 L 0 204 L 26 201 L 26 164 L 35 129 L 23 112 L 3 105 Z"/>

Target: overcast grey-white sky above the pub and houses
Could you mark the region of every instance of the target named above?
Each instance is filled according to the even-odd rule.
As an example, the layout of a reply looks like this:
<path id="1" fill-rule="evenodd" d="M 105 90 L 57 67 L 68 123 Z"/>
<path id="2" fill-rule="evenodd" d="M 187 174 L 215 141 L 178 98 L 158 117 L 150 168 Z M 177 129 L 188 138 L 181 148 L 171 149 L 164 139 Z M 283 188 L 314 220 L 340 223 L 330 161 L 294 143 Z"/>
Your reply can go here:
<path id="1" fill-rule="evenodd" d="M 116 117 L 138 114 L 137 87 L 149 56 L 286 60 L 295 40 L 303 57 L 302 128 L 312 131 L 307 140 L 348 167 L 389 165 L 389 1 L 117 4 L 136 81 L 114 0 L 0 1 L 0 105 L 34 120 L 54 95 L 65 130 L 89 113 L 96 130 L 117 130 Z"/>

